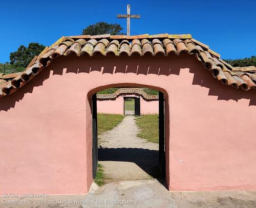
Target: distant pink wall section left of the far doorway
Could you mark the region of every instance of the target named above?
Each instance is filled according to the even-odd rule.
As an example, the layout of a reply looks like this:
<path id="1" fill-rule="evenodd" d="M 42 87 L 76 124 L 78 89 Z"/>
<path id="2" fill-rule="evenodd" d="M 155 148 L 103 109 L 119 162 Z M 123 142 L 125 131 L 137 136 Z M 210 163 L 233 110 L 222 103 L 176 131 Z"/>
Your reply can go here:
<path id="1" fill-rule="evenodd" d="M 115 100 L 97 100 L 97 112 L 123 115 L 123 97 Z"/>

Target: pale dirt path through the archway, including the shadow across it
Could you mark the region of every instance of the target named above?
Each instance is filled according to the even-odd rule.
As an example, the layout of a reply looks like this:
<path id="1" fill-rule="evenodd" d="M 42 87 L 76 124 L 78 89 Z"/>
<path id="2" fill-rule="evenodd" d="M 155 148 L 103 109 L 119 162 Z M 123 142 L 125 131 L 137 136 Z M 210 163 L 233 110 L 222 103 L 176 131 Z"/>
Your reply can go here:
<path id="1" fill-rule="evenodd" d="M 99 136 L 99 163 L 108 181 L 160 177 L 158 144 L 137 137 L 134 116 L 125 116 L 111 131 Z"/>

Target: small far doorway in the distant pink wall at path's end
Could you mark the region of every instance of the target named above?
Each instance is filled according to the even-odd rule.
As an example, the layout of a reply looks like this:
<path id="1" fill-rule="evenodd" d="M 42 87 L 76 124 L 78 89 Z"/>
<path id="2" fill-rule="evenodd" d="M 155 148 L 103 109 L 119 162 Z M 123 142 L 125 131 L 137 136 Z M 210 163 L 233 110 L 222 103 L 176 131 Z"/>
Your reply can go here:
<path id="1" fill-rule="evenodd" d="M 140 116 L 140 97 L 123 97 L 123 105 L 125 116 Z"/>

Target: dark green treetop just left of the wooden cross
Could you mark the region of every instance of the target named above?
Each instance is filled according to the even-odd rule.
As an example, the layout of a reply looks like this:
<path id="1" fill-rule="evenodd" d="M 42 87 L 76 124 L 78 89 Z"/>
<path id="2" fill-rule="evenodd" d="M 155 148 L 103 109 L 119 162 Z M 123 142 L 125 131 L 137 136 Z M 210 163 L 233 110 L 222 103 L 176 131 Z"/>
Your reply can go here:
<path id="1" fill-rule="evenodd" d="M 89 25 L 86 29 L 82 30 L 82 35 L 123 35 L 121 32 L 123 28 L 120 24 L 109 24 L 106 22 L 97 22 L 96 24 Z"/>

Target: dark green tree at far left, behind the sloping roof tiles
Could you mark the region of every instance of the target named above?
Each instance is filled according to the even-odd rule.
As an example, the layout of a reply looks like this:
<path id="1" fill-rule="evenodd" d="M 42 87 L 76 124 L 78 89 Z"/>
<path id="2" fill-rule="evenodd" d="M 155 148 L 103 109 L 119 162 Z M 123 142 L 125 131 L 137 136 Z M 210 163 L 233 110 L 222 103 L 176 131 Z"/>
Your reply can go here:
<path id="1" fill-rule="evenodd" d="M 10 64 L 15 67 L 27 67 L 34 56 L 38 56 L 45 46 L 39 43 L 29 43 L 29 46 L 20 45 L 17 51 L 10 54 Z"/>

